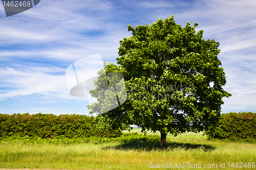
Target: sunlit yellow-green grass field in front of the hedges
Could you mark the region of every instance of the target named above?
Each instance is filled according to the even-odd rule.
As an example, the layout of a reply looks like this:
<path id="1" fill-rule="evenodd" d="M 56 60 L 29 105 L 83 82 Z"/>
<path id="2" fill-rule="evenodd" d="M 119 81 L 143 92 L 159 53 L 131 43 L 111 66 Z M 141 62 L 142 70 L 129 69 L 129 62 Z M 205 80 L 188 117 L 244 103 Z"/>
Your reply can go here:
<path id="1" fill-rule="evenodd" d="M 131 132 L 140 133 L 140 130 Z M 201 169 L 206 164 L 208 167 L 204 169 L 224 169 L 220 163 L 222 166 L 225 163 L 226 169 L 229 165 L 230 169 L 241 169 L 236 168 L 238 162 L 238 167 L 243 169 L 256 169 L 252 163 L 256 162 L 255 153 L 255 143 L 211 141 L 202 133 L 185 133 L 177 137 L 167 135 L 167 149 L 161 149 L 160 142 L 54 144 L 1 141 L 0 167 L 132 170 L 155 169 L 154 166 L 157 168 L 162 164 L 163 167 L 164 164 L 165 168 L 160 169 Z M 189 163 L 191 168 L 184 166 L 183 162 Z M 174 163 L 181 163 L 182 168 L 167 167 Z M 199 164 L 201 168 L 196 168 Z M 217 168 L 216 165 L 212 167 L 214 164 Z"/>

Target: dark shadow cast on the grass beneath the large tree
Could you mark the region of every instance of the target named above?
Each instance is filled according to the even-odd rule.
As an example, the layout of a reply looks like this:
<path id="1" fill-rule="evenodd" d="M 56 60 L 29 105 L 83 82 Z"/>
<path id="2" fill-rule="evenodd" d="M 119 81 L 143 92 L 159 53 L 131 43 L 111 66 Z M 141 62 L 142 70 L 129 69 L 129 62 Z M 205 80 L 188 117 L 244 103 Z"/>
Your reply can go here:
<path id="1" fill-rule="evenodd" d="M 179 142 L 167 142 L 166 148 L 161 148 L 160 142 L 127 142 L 123 144 L 116 145 L 115 147 L 104 147 L 102 149 L 116 149 L 116 150 L 172 150 L 172 149 L 185 149 L 185 150 L 195 150 L 201 149 L 204 152 L 210 152 L 215 150 L 215 147 L 206 144 L 191 144 L 191 143 L 179 143 Z"/>

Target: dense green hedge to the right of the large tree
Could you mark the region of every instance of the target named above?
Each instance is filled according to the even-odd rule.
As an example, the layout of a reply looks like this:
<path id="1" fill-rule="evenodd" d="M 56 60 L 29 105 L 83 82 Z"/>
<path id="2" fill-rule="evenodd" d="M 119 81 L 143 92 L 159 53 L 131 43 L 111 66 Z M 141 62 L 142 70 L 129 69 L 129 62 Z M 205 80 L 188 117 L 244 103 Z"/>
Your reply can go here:
<path id="1" fill-rule="evenodd" d="M 221 114 L 217 127 L 209 129 L 206 134 L 209 139 L 256 141 L 256 113 Z"/>

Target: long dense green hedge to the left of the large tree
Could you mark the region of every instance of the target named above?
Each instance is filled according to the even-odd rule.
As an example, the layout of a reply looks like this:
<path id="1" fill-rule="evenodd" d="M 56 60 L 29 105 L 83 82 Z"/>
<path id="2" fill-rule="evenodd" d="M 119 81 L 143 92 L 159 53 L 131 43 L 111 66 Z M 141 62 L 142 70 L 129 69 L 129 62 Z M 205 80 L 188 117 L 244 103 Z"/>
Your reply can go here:
<path id="1" fill-rule="evenodd" d="M 109 119 L 76 114 L 0 114 L 0 137 L 29 136 L 40 138 L 117 137 L 120 129 Z"/>

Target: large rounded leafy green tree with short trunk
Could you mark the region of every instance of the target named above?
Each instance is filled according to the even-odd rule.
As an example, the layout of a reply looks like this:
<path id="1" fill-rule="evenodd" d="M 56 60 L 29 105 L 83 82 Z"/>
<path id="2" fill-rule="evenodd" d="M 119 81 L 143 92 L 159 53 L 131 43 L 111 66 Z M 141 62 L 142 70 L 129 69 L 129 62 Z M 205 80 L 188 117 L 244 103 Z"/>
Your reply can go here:
<path id="1" fill-rule="evenodd" d="M 201 132 L 215 126 L 222 98 L 231 94 L 223 89 L 226 77 L 217 57 L 220 43 L 203 39 L 203 31 L 195 31 L 197 26 L 187 22 L 182 28 L 174 16 L 151 25 L 129 25 L 132 36 L 119 41 L 117 64 L 104 66 L 105 72 L 123 75 L 127 99 L 102 115 L 119 126 L 160 131 L 162 147 L 167 133 Z M 100 79 L 96 84 L 98 90 L 105 89 Z M 92 113 L 107 107 L 99 105 L 98 100 L 90 106 Z"/>

